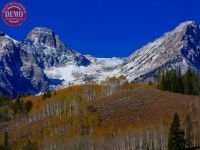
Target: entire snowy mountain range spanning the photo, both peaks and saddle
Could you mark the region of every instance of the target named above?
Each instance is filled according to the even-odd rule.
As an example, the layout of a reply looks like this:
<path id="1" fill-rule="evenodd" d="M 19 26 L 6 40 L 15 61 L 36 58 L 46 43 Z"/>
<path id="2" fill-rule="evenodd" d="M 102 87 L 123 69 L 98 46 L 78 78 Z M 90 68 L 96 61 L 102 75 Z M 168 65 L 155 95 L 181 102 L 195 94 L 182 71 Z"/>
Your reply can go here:
<path id="1" fill-rule="evenodd" d="M 124 75 L 129 82 L 154 79 L 158 70 L 200 72 L 200 27 L 181 23 L 128 58 L 95 58 L 68 48 L 51 29 L 36 27 L 23 41 L 0 32 L 0 94 L 38 94 Z M 22 84 L 23 83 L 23 84 Z"/>

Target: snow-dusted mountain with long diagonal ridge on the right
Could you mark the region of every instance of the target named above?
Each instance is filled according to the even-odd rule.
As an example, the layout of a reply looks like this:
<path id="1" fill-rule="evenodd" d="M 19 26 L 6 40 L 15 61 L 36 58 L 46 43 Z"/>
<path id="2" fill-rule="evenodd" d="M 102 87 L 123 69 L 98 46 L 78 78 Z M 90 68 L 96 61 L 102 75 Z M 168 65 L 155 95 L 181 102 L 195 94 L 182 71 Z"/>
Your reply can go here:
<path id="1" fill-rule="evenodd" d="M 200 27 L 194 21 L 181 23 L 152 43 L 134 52 L 122 67 L 129 81 L 145 81 L 156 76 L 158 69 L 188 67 L 200 71 Z"/>

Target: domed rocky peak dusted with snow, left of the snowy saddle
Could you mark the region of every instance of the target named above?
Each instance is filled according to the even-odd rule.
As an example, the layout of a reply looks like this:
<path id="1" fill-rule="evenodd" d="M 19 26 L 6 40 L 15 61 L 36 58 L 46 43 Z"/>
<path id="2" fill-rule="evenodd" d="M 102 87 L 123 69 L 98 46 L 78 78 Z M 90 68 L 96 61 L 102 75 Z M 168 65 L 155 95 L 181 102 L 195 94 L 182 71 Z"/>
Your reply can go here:
<path id="1" fill-rule="evenodd" d="M 21 49 L 32 54 L 43 69 L 66 64 L 90 64 L 88 59 L 67 48 L 58 35 L 47 28 L 34 28 L 21 43 Z"/>

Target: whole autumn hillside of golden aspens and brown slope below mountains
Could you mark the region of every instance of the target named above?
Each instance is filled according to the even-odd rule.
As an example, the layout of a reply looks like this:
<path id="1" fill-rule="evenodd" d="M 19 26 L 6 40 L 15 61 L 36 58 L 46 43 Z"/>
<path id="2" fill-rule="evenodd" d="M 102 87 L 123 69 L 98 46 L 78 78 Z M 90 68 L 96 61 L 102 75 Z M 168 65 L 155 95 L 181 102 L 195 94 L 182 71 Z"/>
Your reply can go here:
<path id="1" fill-rule="evenodd" d="M 160 144 L 164 147 L 174 112 L 181 118 L 191 114 L 198 121 L 199 97 L 162 92 L 148 84 L 116 84 L 121 79 L 124 78 L 111 78 L 106 84 L 71 86 L 54 91 L 45 99 L 43 95 L 23 97 L 24 102 L 33 103 L 33 108 L 27 116 L 8 123 L 9 142 L 15 149 L 21 149 L 29 140 L 39 149 L 49 149 L 55 143 L 59 143 L 57 149 L 65 144 L 74 148 L 77 141 L 109 147 L 109 142 L 117 146 L 120 140 L 137 147 L 131 139 L 137 143 L 139 137 L 145 137 L 143 142 L 148 143 L 151 136 L 158 140 L 162 135 Z"/>

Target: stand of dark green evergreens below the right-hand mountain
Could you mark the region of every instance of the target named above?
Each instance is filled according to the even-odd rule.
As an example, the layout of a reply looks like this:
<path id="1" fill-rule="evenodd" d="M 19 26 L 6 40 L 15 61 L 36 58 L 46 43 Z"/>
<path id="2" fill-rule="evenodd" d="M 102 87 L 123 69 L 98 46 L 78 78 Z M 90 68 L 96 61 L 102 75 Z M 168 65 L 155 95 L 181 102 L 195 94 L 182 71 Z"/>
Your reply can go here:
<path id="1" fill-rule="evenodd" d="M 160 73 L 157 83 L 163 91 L 200 95 L 200 75 L 190 68 L 183 75 L 180 69 Z"/>

